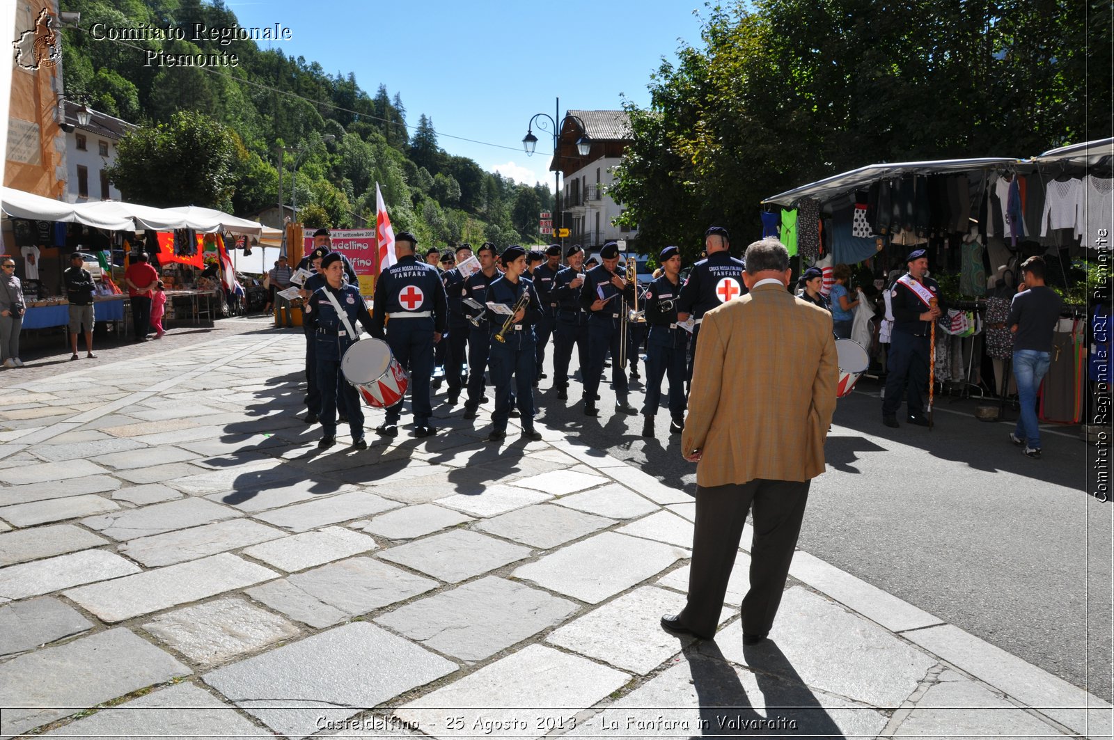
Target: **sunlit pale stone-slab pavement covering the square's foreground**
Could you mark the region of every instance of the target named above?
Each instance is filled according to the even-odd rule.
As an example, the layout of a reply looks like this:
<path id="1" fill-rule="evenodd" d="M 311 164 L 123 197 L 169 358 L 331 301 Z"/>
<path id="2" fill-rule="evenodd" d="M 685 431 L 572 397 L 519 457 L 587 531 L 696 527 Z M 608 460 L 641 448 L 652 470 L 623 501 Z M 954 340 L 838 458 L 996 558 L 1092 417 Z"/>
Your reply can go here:
<path id="1" fill-rule="evenodd" d="M 300 332 L 243 324 L 4 374 L 3 737 L 1111 734 L 803 552 L 771 640 L 742 644 L 745 546 L 716 640 L 672 636 L 687 494 L 443 403 L 433 438 L 320 454 Z"/>

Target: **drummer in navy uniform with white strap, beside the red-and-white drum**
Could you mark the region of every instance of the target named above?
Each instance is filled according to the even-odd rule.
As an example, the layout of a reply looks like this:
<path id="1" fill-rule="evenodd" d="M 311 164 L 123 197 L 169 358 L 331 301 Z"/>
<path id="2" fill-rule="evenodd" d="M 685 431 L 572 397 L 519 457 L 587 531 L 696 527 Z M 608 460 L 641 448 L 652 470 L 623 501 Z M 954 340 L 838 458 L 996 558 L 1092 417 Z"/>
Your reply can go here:
<path id="1" fill-rule="evenodd" d="M 310 327 L 311 339 L 316 345 L 314 359 L 317 363 L 317 392 L 321 393 L 321 441 L 317 447 L 325 449 L 336 444 L 338 395 L 343 396 L 340 406 L 348 411 L 352 447 L 367 449 L 363 439 L 363 408 L 355 387 L 341 378 L 341 358 L 360 335 L 356 321 L 370 331 L 372 321 L 368 308 L 360 295 L 360 289 L 344 280 L 344 262 L 336 252 L 330 252 L 321 260 L 325 285 L 314 291 L 305 303 L 305 322 Z M 338 311 L 338 308 L 340 311 Z"/>

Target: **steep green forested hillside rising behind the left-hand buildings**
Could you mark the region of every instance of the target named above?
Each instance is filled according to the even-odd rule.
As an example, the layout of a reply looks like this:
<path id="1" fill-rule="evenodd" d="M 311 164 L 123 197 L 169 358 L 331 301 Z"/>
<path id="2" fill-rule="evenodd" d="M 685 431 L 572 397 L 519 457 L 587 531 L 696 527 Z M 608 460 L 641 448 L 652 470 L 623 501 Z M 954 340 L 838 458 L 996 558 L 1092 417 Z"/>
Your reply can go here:
<path id="1" fill-rule="evenodd" d="M 127 201 L 248 213 L 277 203 L 283 156 L 283 201 L 291 203 L 296 160 L 299 220 L 307 226 L 373 223 L 377 182 L 395 230 L 426 244 L 532 243 L 538 212 L 553 205 L 544 185 L 516 184 L 449 155 L 424 114 L 407 126 L 400 91 L 379 85 L 369 95 L 351 71 L 329 74 L 252 40 L 95 36 L 98 23 L 180 28 L 186 39 L 194 23 L 236 26 L 221 0 L 61 0 L 61 10 L 81 13 L 77 28 L 63 30 L 66 96 L 141 126 L 120 142 L 110 172 Z M 148 67 L 147 50 L 234 51 L 238 65 Z"/>

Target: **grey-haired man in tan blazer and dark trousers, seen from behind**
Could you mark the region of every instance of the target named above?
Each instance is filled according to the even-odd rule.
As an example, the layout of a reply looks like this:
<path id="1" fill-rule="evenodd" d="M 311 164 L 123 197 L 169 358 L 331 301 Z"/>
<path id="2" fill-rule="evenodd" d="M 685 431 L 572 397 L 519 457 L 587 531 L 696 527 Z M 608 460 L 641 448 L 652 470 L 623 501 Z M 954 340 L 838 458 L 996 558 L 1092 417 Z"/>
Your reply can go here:
<path id="1" fill-rule="evenodd" d="M 746 249 L 750 293 L 704 314 L 682 454 L 697 463 L 688 603 L 671 632 L 715 635 L 739 539 L 753 504 L 743 642 L 766 636 L 781 603 L 839 378 L 831 314 L 794 298 L 775 238 Z"/>

